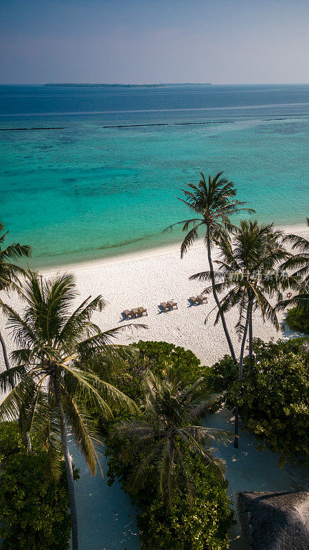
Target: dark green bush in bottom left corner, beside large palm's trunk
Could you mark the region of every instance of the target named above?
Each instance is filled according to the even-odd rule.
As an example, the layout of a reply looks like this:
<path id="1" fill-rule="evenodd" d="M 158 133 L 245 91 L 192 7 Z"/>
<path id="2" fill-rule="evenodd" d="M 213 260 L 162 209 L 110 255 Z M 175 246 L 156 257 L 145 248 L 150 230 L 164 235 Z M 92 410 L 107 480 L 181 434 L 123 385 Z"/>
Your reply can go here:
<path id="1" fill-rule="evenodd" d="M 11 441 L 11 445 L 10 445 Z M 26 454 L 16 422 L 0 426 L 1 550 L 67 550 L 71 532 L 65 463 L 55 485 L 46 452 Z M 78 472 L 74 472 L 78 478 Z"/>

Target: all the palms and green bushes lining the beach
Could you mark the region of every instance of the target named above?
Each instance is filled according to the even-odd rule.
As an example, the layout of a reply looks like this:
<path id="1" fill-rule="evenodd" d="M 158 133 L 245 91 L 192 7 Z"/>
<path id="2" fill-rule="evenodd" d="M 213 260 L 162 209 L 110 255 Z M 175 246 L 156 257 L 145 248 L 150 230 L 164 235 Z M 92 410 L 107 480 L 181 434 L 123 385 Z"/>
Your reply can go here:
<path id="1" fill-rule="evenodd" d="M 127 325 L 102 331 L 93 322 L 93 314 L 104 309 L 102 296 L 78 305 L 72 275 L 43 278 L 20 267 L 31 248 L 3 248 L 8 232 L 0 223 L 0 309 L 16 347 L 9 358 L 0 333 L 3 549 L 65 550 L 71 531 L 72 550 L 78 550 L 78 472 L 68 432 L 91 474 L 101 469 L 104 439 L 110 483 L 119 476 L 139 507 L 144 550 L 228 549 L 233 513 L 224 464 L 212 445 L 228 444 L 231 434 L 203 425 L 205 415 L 222 404 L 236 410 L 235 446 L 240 415 L 260 448 L 279 452 L 280 465 L 307 463 L 308 339 L 265 344 L 253 333 L 255 314 L 278 329 L 277 311 L 287 307 L 292 309 L 286 324 L 308 333 L 309 241 L 284 236 L 273 224 L 234 225 L 236 214 L 254 210 L 236 199 L 233 182 L 222 172 L 208 178 L 201 173 L 199 183 L 183 193 L 179 200 L 194 217 L 166 230 L 183 226 L 181 257 L 203 231 L 209 269 L 191 278 L 207 283 L 203 294 L 214 296 L 215 324 L 222 322 L 229 347 L 229 355 L 212 367 L 168 342 L 115 343 Z M 287 289 L 293 294 L 285 297 Z M 11 291 L 23 300 L 23 314 L 4 299 Z M 226 322 L 234 307 L 235 335 Z M 241 340 L 239 358 L 235 336 Z"/>

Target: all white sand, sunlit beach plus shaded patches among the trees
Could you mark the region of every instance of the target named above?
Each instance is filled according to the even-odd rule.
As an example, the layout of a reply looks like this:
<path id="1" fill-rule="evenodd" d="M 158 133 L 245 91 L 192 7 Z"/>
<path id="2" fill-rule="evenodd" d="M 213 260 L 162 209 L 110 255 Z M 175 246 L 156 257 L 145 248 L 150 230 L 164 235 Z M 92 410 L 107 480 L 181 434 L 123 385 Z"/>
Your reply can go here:
<path id="1" fill-rule="evenodd" d="M 309 237 L 309 230 L 305 225 L 284 228 L 287 233 L 297 233 Z M 148 316 L 139 318 L 135 323 L 143 322 L 147 329 L 128 329 L 119 335 L 119 342 L 128 343 L 141 340 L 165 340 L 177 346 L 191 349 L 203 364 L 211 365 L 222 355 L 228 353 L 227 343 L 220 323 L 214 327 L 215 311 L 209 317 L 207 325 L 204 320 L 209 311 L 214 308 L 214 298 L 209 296 L 207 303 L 191 306 L 190 296 L 196 296 L 203 291 L 203 284 L 189 281 L 189 277 L 208 269 L 207 254 L 203 243 L 198 242 L 183 259 L 180 259 L 179 245 L 161 250 L 152 250 L 145 254 L 133 254 L 109 261 L 96 262 L 88 265 L 68 266 L 59 270 L 73 272 L 76 278 L 80 296 L 78 303 L 87 296 L 102 294 L 106 300 L 106 308 L 102 313 L 93 316 L 93 320 L 102 329 L 130 325 L 131 321 L 123 319 L 124 309 L 144 306 Z M 46 272 L 52 274 L 51 271 Z M 1 298 L 5 298 L 1 296 Z M 6 298 L 8 299 L 8 298 Z M 174 300 L 178 309 L 161 312 L 158 305 L 167 300 Z M 12 296 L 11 303 L 16 309 L 21 309 L 21 303 Z M 237 322 L 237 310 L 227 316 L 227 323 L 231 329 L 231 336 L 236 350 L 240 344 L 235 336 L 233 327 Z M 284 314 L 279 314 L 281 321 Z M 8 351 L 12 350 L 10 334 L 5 328 L 3 316 L 0 318 L 0 327 L 8 344 Z M 291 331 L 279 332 L 269 322 L 264 323 L 259 315 L 255 316 L 253 336 L 268 341 L 271 338 L 290 338 Z M 295 335 L 296 336 L 296 335 Z M 299 336 L 299 335 L 297 335 Z M 115 340 L 116 341 L 116 340 Z M 2 361 L 2 358 L 1 358 Z M 1 369 L 4 368 L 1 362 Z M 233 430 L 233 424 L 227 415 L 214 415 L 209 419 L 212 426 L 220 426 Z M 86 465 L 78 458 L 78 452 L 72 448 L 74 460 L 82 467 L 81 481 L 77 488 L 78 514 L 80 515 L 80 531 L 87 532 L 89 537 L 83 541 L 83 550 L 102 550 L 102 548 L 117 550 L 124 548 L 138 548 L 134 509 L 119 485 L 112 489 L 106 485 L 106 479 L 91 478 Z M 305 473 L 296 467 L 279 470 L 277 455 L 255 450 L 255 441 L 250 434 L 244 434 L 240 448 L 220 448 L 220 454 L 227 460 L 227 478 L 234 502 L 236 493 L 240 490 L 293 490 L 306 487 Z M 98 483 L 97 485 L 95 485 Z M 95 490 L 97 487 L 98 490 Z M 103 487 L 102 491 L 99 487 Z M 111 491 L 110 493 L 108 491 Z M 109 495 L 109 496 L 108 496 Z M 106 507 L 105 499 L 108 500 Z M 116 509 L 118 507 L 118 509 Z M 113 509 L 113 510 L 112 510 Z M 102 516 L 101 514 L 102 510 Z M 115 510 L 115 512 L 114 512 Z M 115 516 L 119 514 L 119 516 Z M 133 517 L 132 517 L 133 515 Z M 111 537 L 111 525 L 117 520 L 118 535 L 126 532 L 124 538 Z M 132 522 L 132 525 L 128 525 Z M 122 525 L 120 525 L 122 524 Z M 127 528 L 127 527 L 128 528 Z M 128 532 L 129 531 L 129 532 Z M 92 534 L 91 534 L 92 533 Z M 105 533 L 105 534 L 104 534 Z M 107 534 L 106 534 L 107 533 Z M 239 526 L 233 529 L 233 538 L 239 536 Z M 132 538 L 131 538 L 132 537 Z M 114 542 L 112 542 L 112 539 Z M 115 540 L 117 544 L 115 546 Z M 234 543 L 236 544 L 236 543 Z M 238 540 L 233 549 L 240 549 Z"/>

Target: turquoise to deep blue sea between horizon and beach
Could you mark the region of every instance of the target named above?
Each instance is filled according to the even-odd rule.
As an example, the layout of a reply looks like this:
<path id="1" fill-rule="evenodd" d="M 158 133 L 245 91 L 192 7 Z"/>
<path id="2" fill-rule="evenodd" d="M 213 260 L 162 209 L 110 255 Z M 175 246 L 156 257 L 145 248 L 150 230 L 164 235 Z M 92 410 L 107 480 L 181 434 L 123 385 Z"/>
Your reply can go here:
<path id="1" fill-rule="evenodd" d="M 309 85 L 1 86 L 0 220 L 35 267 L 155 248 L 223 170 L 259 221 L 304 223 L 308 119 Z"/>

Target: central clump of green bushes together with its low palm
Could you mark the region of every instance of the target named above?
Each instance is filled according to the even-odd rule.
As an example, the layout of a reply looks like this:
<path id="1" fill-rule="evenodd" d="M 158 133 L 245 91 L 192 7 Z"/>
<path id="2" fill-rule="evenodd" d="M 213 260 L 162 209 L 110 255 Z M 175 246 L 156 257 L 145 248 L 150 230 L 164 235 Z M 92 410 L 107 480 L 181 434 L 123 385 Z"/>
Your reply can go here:
<path id="1" fill-rule="evenodd" d="M 141 394 L 130 384 L 128 395 L 139 395 L 142 414 L 122 415 L 109 428 L 110 483 L 119 476 L 139 507 L 143 549 L 168 545 L 175 550 L 225 550 L 233 513 L 224 464 L 210 445 L 228 443 L 231 434 L 201 423 L 217 396 L 211 395 L 204 377 L 196 378 L 203 367 L 192 352 L 167 342 L 135 345 L 143 350 L 141 364 L 146 369 L 151 364 L 157 376 L 139 365 L 144 371 Z M 190 382 L 183 381 L 182 369 Z"/>

